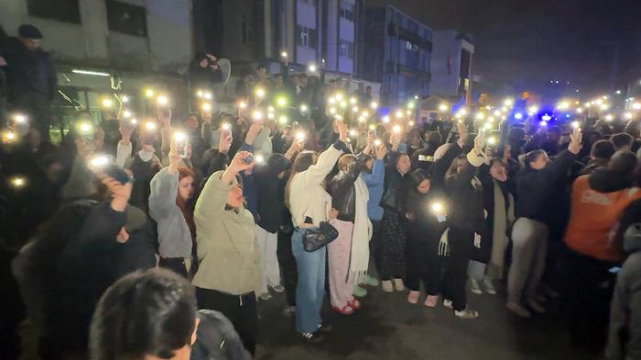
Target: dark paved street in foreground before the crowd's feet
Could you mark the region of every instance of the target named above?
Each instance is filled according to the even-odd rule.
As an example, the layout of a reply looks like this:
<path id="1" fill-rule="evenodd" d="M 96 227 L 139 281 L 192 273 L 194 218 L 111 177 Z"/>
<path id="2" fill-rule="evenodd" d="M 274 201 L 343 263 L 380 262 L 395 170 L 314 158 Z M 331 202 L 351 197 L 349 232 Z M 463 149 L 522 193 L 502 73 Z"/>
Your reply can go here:
<path id="1" fill-rule="evenodd" d="M 478 320 L 458 320 L 440 304 L 436 309 L 406 302 L 406 292 L 369 288 L 363 307 L 351 316 L 329 309 L 334 329 L 320 345 L 295 336 L 293 320 L 280 315 L 283 295 L 260 304 L 260 359 L 598 359 L 569 345 L 558 308 L 522 320 L 508 313 L 503 295 L 470 294 Z M 499 290 L 500 291 L 500 290 Z"/>

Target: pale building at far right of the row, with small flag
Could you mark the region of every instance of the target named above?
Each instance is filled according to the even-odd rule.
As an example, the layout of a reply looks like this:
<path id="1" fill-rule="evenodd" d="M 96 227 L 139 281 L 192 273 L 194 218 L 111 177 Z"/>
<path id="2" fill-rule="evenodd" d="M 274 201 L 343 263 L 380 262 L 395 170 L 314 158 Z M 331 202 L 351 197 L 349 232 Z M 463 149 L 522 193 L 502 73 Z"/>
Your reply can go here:
<path id="1" fill-rule="evenodd" d="M 456 30 L 435 31 L 431 61 L 431 92 L 442 97 L 465 97 L 472 91 L 474 44 Z"/>

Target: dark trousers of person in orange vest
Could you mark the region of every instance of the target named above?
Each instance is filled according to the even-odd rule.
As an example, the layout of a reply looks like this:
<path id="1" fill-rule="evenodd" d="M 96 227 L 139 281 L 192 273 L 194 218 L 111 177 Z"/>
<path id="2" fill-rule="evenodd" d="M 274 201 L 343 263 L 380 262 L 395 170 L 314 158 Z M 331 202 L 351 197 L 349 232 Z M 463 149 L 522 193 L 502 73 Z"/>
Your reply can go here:
<path id="1" fill-rule="evenodd" d="M 565 284 L 562 295 L 570 340 L 579 347 L 603 350 L 610 318 L 616 275 L 609 261 L 590 258 L 566 249 L 563 254 Z"/>

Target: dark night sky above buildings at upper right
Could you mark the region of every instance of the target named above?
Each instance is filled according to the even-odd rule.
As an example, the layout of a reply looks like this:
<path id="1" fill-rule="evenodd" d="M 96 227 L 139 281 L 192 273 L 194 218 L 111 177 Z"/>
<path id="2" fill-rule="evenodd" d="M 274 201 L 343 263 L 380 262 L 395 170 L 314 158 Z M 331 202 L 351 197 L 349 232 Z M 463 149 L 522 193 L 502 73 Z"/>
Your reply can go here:
<path id="1" fill-rule="evenodd" d="M 433 29 L 474 37 L 472 72 L 497 87 L 570 81 L 582 93 L 641 78 L 641 0 L 392 0 Z M 504 86 L 509 85 L 509 86 Z"/>

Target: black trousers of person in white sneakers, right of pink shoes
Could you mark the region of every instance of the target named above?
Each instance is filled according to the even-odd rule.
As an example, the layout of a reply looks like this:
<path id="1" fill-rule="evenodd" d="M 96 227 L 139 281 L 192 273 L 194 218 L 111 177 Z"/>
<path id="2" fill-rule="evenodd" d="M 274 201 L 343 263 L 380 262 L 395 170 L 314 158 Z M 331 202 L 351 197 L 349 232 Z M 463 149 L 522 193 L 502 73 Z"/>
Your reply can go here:
<path id="1" fill-rule="evenodd" d="M 451 227 L 448 241 L 443 297 L 452 300 L 454 310 L 463 311 L 467 307 L 467 266 L 474 250 L 474 231 Z"/>

